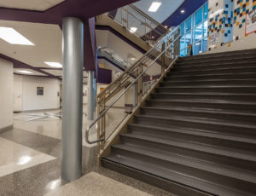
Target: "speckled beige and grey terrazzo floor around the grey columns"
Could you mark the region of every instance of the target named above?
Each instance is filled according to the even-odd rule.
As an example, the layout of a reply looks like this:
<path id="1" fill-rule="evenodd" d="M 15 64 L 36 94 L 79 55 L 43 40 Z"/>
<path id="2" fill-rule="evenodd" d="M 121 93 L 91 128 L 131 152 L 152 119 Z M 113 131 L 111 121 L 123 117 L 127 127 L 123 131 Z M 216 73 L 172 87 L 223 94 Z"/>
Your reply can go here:
<path id="1" fill-rule="evenodd" d="M 26 121 L 28 113 L 15 114 L 14 129 L 0 133 L 1 196 L 172 195 L 131 177 L 97 167 L 96 146 L 88 145 L 85 141 L 84 176 L 75 182 L 61 181 L 61 120 L 44 118 Z M 108 119 L 111 121 L 107 120 L 107 124 L 113 121 L 115 124 L 108 124 L 108 130 L 112 130 L 124 117 L 122 109 L 109 112 Z M 86 126 L 84 118 L 83 127 Z M 90 139 L 94 138 L 96 134 L 91 132 Z"/>

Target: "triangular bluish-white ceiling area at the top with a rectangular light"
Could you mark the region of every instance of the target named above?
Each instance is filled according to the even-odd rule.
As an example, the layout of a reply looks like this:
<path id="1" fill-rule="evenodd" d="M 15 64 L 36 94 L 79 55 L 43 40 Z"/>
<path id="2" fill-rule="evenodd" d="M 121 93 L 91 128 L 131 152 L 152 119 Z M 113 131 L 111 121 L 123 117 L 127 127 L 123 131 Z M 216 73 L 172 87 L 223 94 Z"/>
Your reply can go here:
<path id="1" fill-rule="evenodd" d="M 162 4 L 157 12 L 148 12 L 148 9 L 153 2 L 160 2 Z M 154 20 L 162 23 L 175 12 L 183 2 L 184 0 L 141 0 L 133 4 L 138 9 L 143 10 L 143 12 L 151 16 Z"/>

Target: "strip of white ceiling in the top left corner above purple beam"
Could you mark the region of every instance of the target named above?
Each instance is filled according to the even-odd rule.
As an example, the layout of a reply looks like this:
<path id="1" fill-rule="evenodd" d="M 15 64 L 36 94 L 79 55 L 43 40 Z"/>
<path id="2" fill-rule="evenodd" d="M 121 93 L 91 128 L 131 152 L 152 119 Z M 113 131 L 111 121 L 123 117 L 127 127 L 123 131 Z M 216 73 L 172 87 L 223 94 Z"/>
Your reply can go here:
<path id="1" fill-rule="evenodd" d="M 0 0 L 0 7 L 44 11 L 65 0 Z"/>

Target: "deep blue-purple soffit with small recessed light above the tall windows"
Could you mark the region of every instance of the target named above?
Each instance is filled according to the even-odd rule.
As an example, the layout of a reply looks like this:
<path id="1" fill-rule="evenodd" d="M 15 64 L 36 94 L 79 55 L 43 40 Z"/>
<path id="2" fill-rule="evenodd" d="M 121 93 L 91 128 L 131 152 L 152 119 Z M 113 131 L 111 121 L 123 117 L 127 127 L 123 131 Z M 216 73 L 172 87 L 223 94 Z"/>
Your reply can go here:
<path id="1" fill-rule="evenodd" d="M 163 26 L 178 26 L 183 20 L 189 17 L 190 14 L 193 14 L 196 9 L 199 9 L 204 3 L 208 0 L 185 0 L 181 6 L 162 24 Z M 181 13 L 181 10 L 184 10 L 184 13 Z"/>

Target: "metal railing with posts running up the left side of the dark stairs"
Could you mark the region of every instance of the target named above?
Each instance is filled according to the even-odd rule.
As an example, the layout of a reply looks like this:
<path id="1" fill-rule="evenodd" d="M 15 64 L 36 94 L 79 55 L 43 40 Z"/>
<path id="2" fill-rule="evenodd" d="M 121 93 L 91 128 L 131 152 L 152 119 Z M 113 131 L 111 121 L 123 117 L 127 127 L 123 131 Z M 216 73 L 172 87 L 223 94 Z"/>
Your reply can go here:
<path id="1" fill-rule="evenodd" d="M 180 28 L 177 27 L 96 96 L 96 119 L 85 130 L 85 140 L 89 144 L 98 143 L 98 154 L 115 130 L 139 107 L 154 84 L 177 61 L 179 42 Z M 89 131 L 93 127 L 97 139 L 90 141 Z"/>

